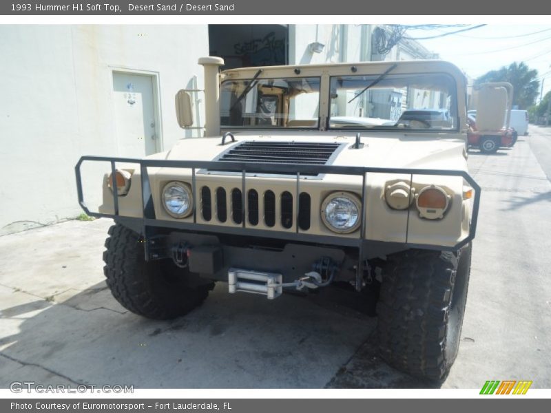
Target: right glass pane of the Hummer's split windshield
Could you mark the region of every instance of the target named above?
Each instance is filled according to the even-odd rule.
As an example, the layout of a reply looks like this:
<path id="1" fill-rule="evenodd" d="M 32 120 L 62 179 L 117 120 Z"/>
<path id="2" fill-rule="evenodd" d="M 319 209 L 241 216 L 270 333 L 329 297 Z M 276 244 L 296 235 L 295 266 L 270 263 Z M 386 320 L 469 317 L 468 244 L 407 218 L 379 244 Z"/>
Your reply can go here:
<path id="1" fill-rule="evenodd" d="M 333 76 L 330 111 L 332 129 L 457 128 L 455 83 L 446 74 Z"/>

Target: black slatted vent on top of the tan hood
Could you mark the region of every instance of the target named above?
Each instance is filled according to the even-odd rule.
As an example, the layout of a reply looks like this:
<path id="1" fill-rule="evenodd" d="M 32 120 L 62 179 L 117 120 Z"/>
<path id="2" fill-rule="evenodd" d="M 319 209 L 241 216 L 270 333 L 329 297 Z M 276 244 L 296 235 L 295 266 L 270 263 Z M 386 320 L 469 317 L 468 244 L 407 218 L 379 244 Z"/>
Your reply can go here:
<path id="1" fill-rule="evenodd" d="M 325 165 L 340 146 L 316 142 L 242 142 L 222 154 L 219 161 L 272 164 Z"/>

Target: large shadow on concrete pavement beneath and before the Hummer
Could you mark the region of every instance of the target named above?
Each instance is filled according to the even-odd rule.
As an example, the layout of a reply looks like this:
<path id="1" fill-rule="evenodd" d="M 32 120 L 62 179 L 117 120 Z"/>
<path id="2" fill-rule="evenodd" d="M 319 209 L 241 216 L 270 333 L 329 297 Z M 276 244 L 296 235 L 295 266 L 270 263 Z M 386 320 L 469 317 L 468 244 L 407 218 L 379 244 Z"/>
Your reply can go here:
<path id="1" fill-rule="evenodd" d="M 41 384 L 52 385 L 428 387 L 378 359 L 375 318 L 331 300 L 284 295 L 267 301 L 229 295 L 222 284 L 187 316 L 152 321 L 118 306 L 105 282 L 65 292 L 64 300 L 34 299 L 17 289 L 10 294 L 20 295 L 18 304 L 3 309 L 0 319 L 17 328 L 0 339 L 0 359 L 17 368 L 0 366 L 1 388 L 32 381 L 36 369 L 50 374 L 52 383 Z"/>

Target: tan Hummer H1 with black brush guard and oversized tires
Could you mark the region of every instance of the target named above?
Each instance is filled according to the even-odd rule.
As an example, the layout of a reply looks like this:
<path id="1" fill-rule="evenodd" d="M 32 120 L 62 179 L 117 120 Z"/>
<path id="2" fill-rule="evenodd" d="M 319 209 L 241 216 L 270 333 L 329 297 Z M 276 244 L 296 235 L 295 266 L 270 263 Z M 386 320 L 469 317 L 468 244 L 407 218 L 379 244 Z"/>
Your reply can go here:
<path id="1" fill-rule="evenodd" d="M 329 286 L 375 292 L 382 357 L 443 380 L 457 356 L 480 197 L 467 173 L 464 75 L 442 61 L 221 73 L 222 59 L 199 63 L 204 138 L 76 165 L 83 209 L 115 221 L 103 256 L 114 297 L 169 319 L 214 282 L 268 299 Z M 185 90 L 176 112 L 191 127 Z M 98 213 L 83 200 L 90 161 L 111 165 Z"/>

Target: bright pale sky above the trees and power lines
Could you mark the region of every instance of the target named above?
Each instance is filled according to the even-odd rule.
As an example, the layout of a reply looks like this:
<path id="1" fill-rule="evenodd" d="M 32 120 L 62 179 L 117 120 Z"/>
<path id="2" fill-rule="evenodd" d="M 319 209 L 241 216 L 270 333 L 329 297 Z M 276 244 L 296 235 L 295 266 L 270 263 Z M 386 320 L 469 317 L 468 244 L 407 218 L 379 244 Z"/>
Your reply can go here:
<path id="1" fill-rule="evenodd" d="M 408 30 L 406 36 L 428 37 L 461 29 Z M 488 24 L 466 32 L 418 41 L 439 54 L 440 59 L 455 63 L 472 78 L 514 61 L 522 61 L 538 71 L 540 87 L 545 79 L 543 95 L 551 90 L 551 25 Z"/>

